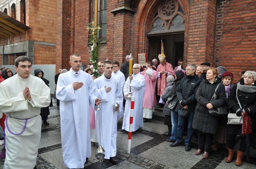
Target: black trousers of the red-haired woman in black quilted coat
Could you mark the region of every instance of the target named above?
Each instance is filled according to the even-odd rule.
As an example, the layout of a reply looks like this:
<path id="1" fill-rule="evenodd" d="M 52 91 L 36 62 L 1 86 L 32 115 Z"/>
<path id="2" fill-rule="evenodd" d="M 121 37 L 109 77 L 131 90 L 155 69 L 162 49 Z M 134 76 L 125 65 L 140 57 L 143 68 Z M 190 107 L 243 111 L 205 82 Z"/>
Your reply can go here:
<path id="1" fill-rule="evenodd" d="M 211 144 L 213 140 L 213 134 L 210 133 L 202 133 L 198 131 L 198 149 L 210 152 Z"/>

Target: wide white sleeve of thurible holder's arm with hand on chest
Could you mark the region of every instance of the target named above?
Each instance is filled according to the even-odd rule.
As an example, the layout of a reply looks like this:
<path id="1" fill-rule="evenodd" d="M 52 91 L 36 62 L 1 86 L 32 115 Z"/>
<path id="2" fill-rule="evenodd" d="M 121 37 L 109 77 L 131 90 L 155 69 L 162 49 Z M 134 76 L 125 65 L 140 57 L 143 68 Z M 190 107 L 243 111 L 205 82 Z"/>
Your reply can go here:
<path id="1" fill-rule="evenodd" d="M 62 102 L 76 100 L 73 84 L 68 84 L 65 80 L 68 80 L 67 77 L 59 75 L 56 87 L 56 98 Z"/>

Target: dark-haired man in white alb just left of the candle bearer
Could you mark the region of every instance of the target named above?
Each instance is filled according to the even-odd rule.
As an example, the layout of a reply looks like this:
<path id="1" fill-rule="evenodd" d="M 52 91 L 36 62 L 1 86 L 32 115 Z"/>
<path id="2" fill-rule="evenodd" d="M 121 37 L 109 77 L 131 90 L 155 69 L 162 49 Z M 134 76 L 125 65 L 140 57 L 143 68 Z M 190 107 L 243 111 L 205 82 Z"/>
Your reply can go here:
<path id="1" fill-rule="evenodd" d="M 124 74 L 120 71 L 119 62 L 117 62 L 117 61 L 113 62 L 113 72 L 112 72 L 111 75 L 114 76 L 119 81 L 119 83 L 121 85 L 121 90 L 122 90 L 122 93 L 123 93 L 125 77 L 124 77 Z M 122 100 L 124 100 L 123 95 L 122 95 Z M 120 104 L 119 109 L 120 109 L 120 113 L 119 113 L 119 116 L 117 117 L 117 120 L 120 120 L 120 118 L 122 118 L 122 116 L 124 116 L 123 104 Z"/>

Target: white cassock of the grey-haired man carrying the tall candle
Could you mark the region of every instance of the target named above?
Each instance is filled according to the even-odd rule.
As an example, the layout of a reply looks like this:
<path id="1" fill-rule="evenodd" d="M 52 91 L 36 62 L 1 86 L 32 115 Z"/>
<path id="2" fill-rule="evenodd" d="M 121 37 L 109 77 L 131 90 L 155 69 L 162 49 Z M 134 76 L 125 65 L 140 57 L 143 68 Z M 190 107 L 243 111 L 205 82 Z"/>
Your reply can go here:
<path id="1" fill-rule="evenodd" d="M 134 98 L 134 118 L 132 123 L 132 131 L 136 131 L 139 127 L 143 126 L 143 98 L 145 93 L 145 77 L 138 73 L 133 75 L 132 82 L 130 84 L 130 78 L 127 78 L 124 84 L 124 96 L 128 94 L 130 87 L 132 90 L 132 96 Z M 126 103 L 124 107 L 124 118 L 122 122 L 122 129 L 129 131 L 130 124 L 130 109 L 131 98 L 125 98 Z"/>

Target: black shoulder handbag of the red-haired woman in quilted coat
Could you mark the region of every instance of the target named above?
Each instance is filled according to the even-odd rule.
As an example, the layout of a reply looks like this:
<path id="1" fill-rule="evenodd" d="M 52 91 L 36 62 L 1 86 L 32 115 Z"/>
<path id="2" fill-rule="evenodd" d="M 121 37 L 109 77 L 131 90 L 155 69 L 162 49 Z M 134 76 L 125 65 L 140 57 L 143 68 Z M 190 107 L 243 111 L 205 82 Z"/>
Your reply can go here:
<path id="1" fill-rule="evenodd" d="M 217 92 L 217 89 L 219 87 L 221 83 L 219 83 L 214 91 L 214 94 L 213 96 L 211 97 L 211 100 L 210 102 L 213 102 L 214 100 L 217 99 L 217 95 L 216 95 L 216 92 Z M 221 107 L 216 107 L 216 108 L 213 108 L 213 109 L 208 109 L 209 110 L 209 114 L 211 114 L 212 116 L 224 116 L 226 114 L 228 114 L 228 107 L 226 104 L 222 105 Z"/>

